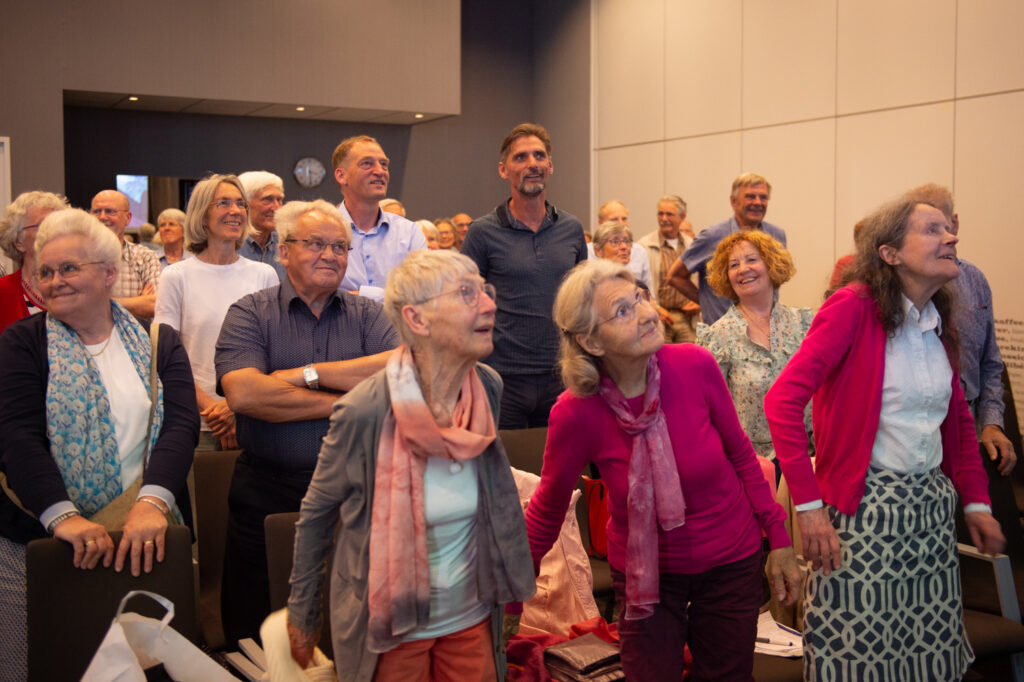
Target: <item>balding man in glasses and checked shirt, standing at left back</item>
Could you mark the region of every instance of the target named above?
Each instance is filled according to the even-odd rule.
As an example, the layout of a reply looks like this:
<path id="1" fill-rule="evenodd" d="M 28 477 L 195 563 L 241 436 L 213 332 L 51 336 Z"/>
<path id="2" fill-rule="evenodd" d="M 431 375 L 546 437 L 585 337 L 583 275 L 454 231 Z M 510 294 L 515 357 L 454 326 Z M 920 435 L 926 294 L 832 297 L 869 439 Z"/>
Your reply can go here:
<path id="1" fill-rule="evenodd" d="M 114 299 L 136 317 L 152 319 L 162 268 L 156 253 L 125 240 L 125 227 L 131 221 L 128 198 L 117 189 L 103 189 L 92 198 L 90 212 L 121 241 Z"/>

